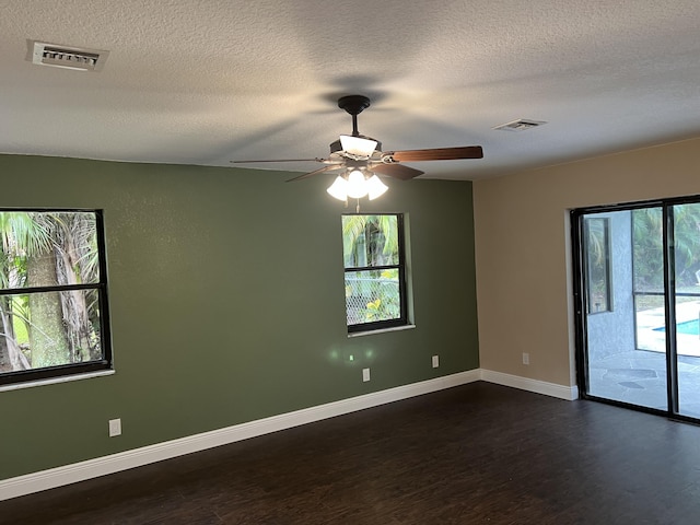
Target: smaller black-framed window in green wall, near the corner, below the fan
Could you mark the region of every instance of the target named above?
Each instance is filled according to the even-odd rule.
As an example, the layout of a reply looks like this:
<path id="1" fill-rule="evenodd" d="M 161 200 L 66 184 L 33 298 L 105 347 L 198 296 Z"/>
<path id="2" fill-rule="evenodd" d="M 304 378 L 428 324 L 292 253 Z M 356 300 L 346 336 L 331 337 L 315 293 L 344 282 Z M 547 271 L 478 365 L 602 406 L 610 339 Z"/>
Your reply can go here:
<path id="1" fill-rule="evenodd" d="M 407 324 L 404 217 L 342 215 L 348 331 Z"/>

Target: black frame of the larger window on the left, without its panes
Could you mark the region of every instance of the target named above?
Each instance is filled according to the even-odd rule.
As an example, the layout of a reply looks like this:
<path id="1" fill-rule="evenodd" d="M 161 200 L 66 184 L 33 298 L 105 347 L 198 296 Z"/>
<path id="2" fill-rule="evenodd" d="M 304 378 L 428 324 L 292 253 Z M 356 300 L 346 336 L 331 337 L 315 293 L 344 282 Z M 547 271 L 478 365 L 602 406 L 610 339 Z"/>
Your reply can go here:
<path id="1" fill-rule="evenodd" d="M 0 208 L 0 212 L 42 212 L 42 213 L 93 213 L 95 217 L 95 234 L 97 241 L 97 258 L 100 266 L 100 279 L 94 283 L 81 284 L 56 284 L 45 287 L 25 287 L 4 289 L 0 288 L 0 295 L 18 295 L 46 292 L 61 292 L 73 290 L 97 290 L 97 301 L 100 308 L 100 345 L 102 359 L 69 363 L 40 369 L 31 369 L 12 372 L 0 372 L 0 388 L 3 386 L 22 385 L 48 380 L 60 380 L 83 374 L 105 372 L 114 370 L 113 349 L 109 323 L 109 301 L 107 291 L 107 255 L 106 237 L 104 226 L 104 211 L 101 209 L 79 209 L 79 208 Z"/>

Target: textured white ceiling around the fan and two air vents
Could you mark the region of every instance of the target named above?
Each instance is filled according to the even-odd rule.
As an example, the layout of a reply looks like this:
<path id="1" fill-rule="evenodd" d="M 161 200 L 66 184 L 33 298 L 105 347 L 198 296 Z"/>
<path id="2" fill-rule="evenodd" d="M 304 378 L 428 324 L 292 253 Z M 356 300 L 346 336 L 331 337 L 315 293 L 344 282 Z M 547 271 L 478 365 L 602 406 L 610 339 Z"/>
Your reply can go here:
<path id="1" fill-rule="evenodd" d="M 0 0 L 0 152 L 230 166 L 481 144 L 476 179 L 700 135 L 698 0 Z M 110 51 L 35 66 L 27 40 Z M 549 124 L 495 131 L 517 119 Z M 314 163 L 244 165 L 296 172 Z"/>

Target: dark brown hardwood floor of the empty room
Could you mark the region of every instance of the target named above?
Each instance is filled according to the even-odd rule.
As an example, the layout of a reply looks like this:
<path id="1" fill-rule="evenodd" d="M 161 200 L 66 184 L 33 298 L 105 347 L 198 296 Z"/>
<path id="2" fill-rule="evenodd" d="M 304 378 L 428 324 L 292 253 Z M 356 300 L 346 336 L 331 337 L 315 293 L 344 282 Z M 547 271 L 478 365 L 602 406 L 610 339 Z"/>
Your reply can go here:
<path id="1" fill-rule="evenodd" d="M 700 427 L 474 383 L 0 502 L 0 523 L 700 523 Z"/>

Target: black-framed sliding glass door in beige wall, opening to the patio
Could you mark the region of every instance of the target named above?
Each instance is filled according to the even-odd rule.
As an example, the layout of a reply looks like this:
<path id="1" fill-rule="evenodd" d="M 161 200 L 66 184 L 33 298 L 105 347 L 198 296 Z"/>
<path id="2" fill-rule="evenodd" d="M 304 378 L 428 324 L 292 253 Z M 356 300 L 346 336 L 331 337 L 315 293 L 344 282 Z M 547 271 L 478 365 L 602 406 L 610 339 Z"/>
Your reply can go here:
<path id="1" fill-rule="evenodd" d="M 700 418 L 700 199 L 572 213 L 582 395 Z"/>

